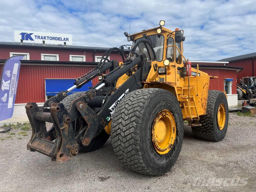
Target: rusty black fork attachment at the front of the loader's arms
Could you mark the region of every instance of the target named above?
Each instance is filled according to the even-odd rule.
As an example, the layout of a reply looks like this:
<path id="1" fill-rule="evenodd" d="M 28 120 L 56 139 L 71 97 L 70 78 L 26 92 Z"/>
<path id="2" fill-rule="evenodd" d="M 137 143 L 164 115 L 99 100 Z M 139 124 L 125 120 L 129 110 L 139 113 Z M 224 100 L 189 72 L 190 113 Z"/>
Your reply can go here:
<path id="1" fill-rule="evenodd" d="M 78 153 L 71 117 L 62 103 L 52 103 L 50 113 L 42 112 L 43 108 L 34 102 L 27 103 L 25 108 L 32 128 L 27 150 L 45 154 L 58 163 L 66 162 Z M 45 121 L 53 123 L 54 141 L 50 141 Z"/>

